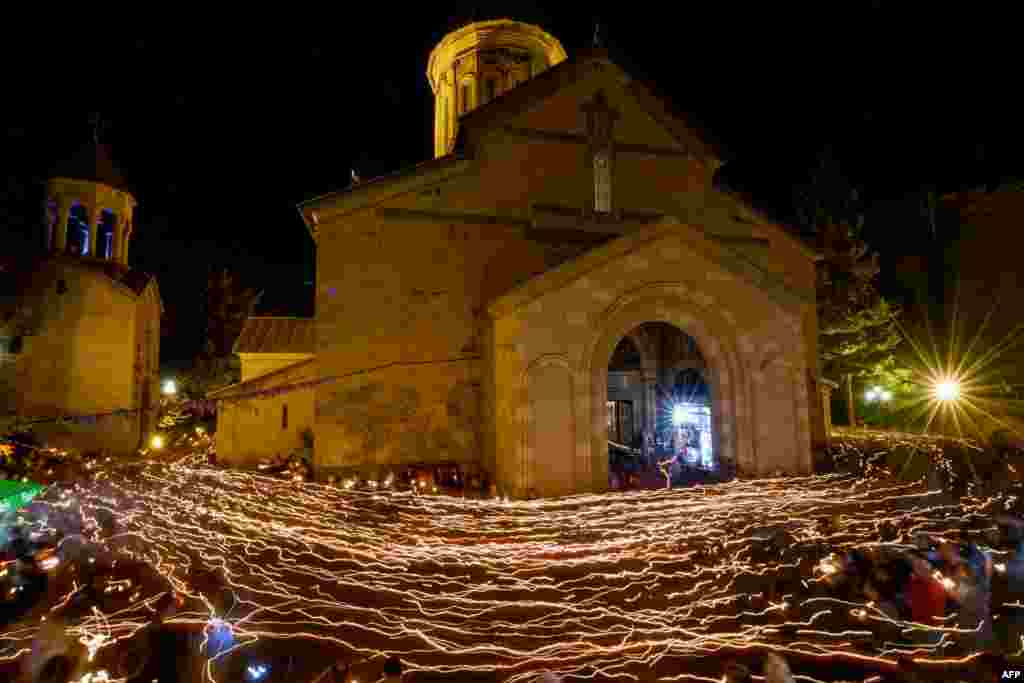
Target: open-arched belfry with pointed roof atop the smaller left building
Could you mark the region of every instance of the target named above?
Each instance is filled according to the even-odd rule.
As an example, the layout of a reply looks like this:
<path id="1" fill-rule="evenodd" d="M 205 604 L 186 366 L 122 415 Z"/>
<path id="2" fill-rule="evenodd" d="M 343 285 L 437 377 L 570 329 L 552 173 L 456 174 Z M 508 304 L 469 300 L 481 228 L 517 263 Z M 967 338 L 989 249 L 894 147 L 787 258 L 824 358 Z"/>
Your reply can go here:
<path id="1" fill-rule="evenodd" d="M 136 205 L 97 135 L 58 164 L 46 181 L 45 248 L 127 268 Z"/>

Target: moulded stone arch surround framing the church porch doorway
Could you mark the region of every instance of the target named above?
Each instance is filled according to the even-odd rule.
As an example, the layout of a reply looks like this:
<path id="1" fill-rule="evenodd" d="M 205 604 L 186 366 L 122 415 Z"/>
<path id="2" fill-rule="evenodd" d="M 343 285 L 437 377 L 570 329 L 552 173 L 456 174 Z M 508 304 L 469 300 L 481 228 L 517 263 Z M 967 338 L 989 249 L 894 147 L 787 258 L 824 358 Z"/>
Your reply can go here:
<path id="1" fill-rule="evenodd" d="M 591 473 L 591 488 L 607 490 L 606 373 L 618 341 L 643 323 L 668 323 L 692 337 L 707 362 L 712 390 L 713 450 L 723 474 L 754 469 L 753 447 L 745 421 L 750 388 L 742 374 L 735 335 L 721 315 L 694 301 L 683 285 L 651 285 L 627 293 L 599 319 L 597 332 L 579 359 L 586 388 L 579 400 L 589 404 L 587 443 L 578 443 Z M 583 384 L 583 382 L 582 382 Z M 582 447 L 581 447 L 582 446 Z"/>

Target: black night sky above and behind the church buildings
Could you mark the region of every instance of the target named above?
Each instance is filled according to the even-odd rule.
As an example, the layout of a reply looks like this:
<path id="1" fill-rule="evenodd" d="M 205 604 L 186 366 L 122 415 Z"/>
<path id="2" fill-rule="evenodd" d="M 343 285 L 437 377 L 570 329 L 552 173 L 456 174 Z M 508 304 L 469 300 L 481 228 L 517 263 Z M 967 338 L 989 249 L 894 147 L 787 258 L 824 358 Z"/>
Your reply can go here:
<path id="1" fill-rule="evenodd" d="M 810 14 L 700 4 L 618 3 L 602 13 L 601 33 L 615 61 L 728 148 L 730 177 L 765 206 L 785 211 L 790 185 L 826 143 L 872 200 L 1019 171 L 1009 103 L 1019 77 L 992 87 L 1011 63 L 989 53 L 1002 24 L 993 14 L 979 11 L 981 41 L 964 16 L 888 8 L 903 3 L 822 3 Z M 13 246 L 41 239 L 39 183 L 90 139 L 89 114 L 99 111 L 102 139 L 139 200 L 131 259 L 160 278 L 166 359 L 187 357 L 209 265 L 257 288 L 301 287 L 313 248 L 295 204 L 345 186 L 353 165 L 367 178 L 432 156 L 424 70 L 453 18 L 475 6 L 477 17 L 541 24 L 570 54 L 590 43 L 595 14 L 577 9 L 586 5 L 539 5 L 83 25 L 51 35 L 45 50 L 27 30 L 24 45 L 6 45 L 17 59 L 4 85 L 0 229 Z M 61 60 L 81 73 L 54 69 Z M 890 250 L 910 231 L 881 230 Z"/>

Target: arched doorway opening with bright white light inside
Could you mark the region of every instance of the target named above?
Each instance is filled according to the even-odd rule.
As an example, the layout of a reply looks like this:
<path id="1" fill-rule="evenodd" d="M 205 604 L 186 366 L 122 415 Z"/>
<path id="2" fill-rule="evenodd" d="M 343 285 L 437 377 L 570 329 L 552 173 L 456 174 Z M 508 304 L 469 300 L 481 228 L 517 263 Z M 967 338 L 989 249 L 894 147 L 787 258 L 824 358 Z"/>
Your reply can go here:
<path id="1" fill-rule="evenodd" d="M 718 470 L 711 383 L 696 340 L 666 322 L 633 328 L 607 366 L 605 424 L 608 485 L 656 485 L 657 463 L 684 470 Z"/>

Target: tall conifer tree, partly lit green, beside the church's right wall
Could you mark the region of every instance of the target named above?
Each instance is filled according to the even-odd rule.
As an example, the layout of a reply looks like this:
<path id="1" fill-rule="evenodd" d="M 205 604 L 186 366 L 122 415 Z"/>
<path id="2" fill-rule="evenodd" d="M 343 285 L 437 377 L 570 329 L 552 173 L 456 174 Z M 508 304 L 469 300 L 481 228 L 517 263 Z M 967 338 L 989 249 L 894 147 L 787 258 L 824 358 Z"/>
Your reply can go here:
<path id="1" fill-rule="evenodd" d="M 902 342 L 899 308 L 878 291 L 878 254 L 864 242 L 860 193 L 842 174 L 830 148 L 818 156 L 808 180 L 797 185 L 798 226 L 816 244 L 818 358 L 824 377 L 846 385 L 847 418 L 856 424 L 856 378 L 895 369 Z"/>

